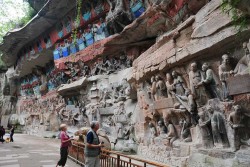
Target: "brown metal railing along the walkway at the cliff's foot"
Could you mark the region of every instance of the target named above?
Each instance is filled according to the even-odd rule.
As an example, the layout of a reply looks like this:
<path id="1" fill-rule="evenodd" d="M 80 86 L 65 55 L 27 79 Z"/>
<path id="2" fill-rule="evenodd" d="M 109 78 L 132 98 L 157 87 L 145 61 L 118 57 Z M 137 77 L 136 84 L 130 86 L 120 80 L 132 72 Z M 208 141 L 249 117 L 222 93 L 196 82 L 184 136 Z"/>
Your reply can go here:
<path id="1" fill-rule="evenodd" d="M 84 166 L 84 144 L 73 142 L 69 147 L 69 158 Z M 168 167 L 167 165 L 105 149 L 102 149 L 100 159 L 101 167 Z"/>

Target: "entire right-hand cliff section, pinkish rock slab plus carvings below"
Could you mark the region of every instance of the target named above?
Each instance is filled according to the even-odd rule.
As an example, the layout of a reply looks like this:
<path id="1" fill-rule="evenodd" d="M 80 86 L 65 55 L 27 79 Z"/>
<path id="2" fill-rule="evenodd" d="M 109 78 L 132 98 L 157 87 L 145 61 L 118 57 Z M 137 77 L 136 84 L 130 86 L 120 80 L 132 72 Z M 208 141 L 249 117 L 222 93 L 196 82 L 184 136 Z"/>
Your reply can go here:
<path id="1" fill-rule="evenodd" d="M 249 117 L 235 120 L 250 109 L 249 28 L 238 33 L 212 0 L 133 62 L 129 82 L 139 85 L 145 118 L 139 155 L 170 166 L 249 166 Z"/>

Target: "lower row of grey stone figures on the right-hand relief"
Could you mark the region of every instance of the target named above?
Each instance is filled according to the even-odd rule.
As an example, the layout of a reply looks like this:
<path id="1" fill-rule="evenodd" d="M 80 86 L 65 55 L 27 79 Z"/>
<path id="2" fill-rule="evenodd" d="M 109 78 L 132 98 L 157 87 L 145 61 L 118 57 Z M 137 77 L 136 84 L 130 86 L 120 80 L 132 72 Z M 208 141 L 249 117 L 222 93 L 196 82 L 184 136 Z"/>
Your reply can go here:
<path id="1" fill-rule="evenodd" d="M 236 151 L 241 145 L 250 145 L 250 125 L 248 123 L 250 114 L 244 112 L 240 105 L 232 107 L 232 112 L 228 115 L 227 120 L 222 112 L 212 105 L 207 105 L 197 116 L 198 122 L 194 122 L 196 119 L 194 114 L 187 112 L 185 108 L 170 110 L 162 120 L 158 121 L 157 128 L 154 123 L 149 123 L 151 142 L 165 141 L 166 145 L 172 146 L 179 136 L 184 142 L 192 142 L 194 137 L 191 135 L 191 129 L 198 125 L 204 148 L 227 148 L 232 143 L 232 148 Z M 174 123 L 175 117 L 180 122 Z M 180 125 L 179 130 L 177 130 L 177 125 Z M 228 138 L 230 130 L 234 135 L 231 139 Z"/>

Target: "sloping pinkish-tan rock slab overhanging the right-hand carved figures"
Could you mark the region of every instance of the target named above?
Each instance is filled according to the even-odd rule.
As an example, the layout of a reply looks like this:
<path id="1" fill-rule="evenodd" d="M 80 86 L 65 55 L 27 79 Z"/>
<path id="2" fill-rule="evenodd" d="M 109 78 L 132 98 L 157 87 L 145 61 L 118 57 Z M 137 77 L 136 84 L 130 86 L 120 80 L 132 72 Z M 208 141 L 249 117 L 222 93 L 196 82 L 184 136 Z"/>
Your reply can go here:
<path id="1" fill-rule="evenodd" d="M 249 28 L 244 30 L 242 37 L 247 39 L 249 31 Z M 220 1 L 212 0 L 140 55 L 133 63 L 134 78 L 140 80 L 152 71 L 169 69 L 194 58 L 222 54 L 240 40 L 230 17 L 221 11 Z"/>

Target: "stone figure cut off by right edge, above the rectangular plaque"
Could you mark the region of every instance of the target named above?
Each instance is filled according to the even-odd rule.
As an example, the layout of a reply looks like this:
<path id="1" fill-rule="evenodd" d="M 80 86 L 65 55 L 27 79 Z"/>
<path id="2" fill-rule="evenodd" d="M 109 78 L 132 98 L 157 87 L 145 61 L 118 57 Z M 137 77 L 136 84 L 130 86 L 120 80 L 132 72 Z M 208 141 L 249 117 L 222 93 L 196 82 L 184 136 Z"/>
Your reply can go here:
<path id="1" fill-rule="evenodd" d="M 250 74 L 250 39 L 249 43 L 244 42 L 243 43 L 243 49 L 244 49 L 244 56 L 240 59 L 238 64 L 236 65 L 234 69 L 235 75 L 244 75 L 244 74 Z"/>

